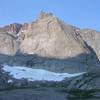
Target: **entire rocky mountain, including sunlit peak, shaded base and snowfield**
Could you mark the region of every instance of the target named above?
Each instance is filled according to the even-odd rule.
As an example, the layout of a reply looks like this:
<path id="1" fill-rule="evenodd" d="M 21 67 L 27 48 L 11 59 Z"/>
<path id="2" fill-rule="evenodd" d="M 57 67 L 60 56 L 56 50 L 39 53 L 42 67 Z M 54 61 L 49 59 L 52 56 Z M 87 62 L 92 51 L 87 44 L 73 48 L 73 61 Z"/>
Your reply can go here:
<path id="1" fill-rule="evenodd" d="M 34 22 L 0 28 L 0 89 L 37 84 L 100 88 L 99 35 L 45 12 Z"/>

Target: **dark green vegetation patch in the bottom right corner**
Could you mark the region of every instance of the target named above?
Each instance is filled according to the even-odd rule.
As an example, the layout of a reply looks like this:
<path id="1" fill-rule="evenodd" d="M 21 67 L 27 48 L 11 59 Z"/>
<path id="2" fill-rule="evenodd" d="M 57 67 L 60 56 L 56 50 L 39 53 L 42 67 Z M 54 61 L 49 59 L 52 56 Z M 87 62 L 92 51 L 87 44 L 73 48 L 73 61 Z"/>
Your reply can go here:
<path id="1" fill-rule="evenodd" d="M 67 99 L 69 100 L 87 100 L 87 99 L 98 99 L 100 96 L 95 96 L 96 92 L 100 93 L 100 90 L 80 90 L 80 89 L 63 89 L 63 92 L 69 94 Z"/>

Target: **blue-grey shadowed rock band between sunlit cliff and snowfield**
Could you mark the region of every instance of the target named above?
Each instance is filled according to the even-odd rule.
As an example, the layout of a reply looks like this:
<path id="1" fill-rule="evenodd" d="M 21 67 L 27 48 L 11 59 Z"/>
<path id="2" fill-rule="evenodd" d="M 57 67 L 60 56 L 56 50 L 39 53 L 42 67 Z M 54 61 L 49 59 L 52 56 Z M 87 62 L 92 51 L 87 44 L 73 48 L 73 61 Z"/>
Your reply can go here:
<path id="1" fill-rule="evenodd" d="M 99 68 L 98 59 L 92 59 L 91 54 L 80 54 L 66 59 L 41 57 L 32 54 L 17 54 L 15 56 L 1 54 L 0 64 L 7 64 L 10 66 L 26 66 L 64 73 L 89 72 L 98 70 Z"/>

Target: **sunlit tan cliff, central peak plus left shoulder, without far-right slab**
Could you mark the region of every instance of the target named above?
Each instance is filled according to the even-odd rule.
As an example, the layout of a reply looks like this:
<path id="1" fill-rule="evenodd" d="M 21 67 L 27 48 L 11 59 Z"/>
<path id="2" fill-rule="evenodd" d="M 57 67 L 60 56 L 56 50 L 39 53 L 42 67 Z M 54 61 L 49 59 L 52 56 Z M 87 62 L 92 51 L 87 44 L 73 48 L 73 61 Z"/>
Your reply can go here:
<path id="1" fill-rule="evenodd" d="M 91 50 L 84 42 L 86 38 L 82 32 L 74 26 L 64 24 L 51 13 L 41 12 L 35 22 L 0 28 L 0 53 L 15 54 L 19 50 L 52 58 L 90 54 Z"/>

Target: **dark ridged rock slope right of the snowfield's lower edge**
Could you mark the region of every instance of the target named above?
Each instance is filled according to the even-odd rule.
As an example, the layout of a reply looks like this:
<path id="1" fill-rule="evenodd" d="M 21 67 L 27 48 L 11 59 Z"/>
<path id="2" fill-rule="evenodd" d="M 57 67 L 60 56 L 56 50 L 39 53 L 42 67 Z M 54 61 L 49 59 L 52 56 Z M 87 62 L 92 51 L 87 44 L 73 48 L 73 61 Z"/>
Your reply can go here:
<path id="1" fill-rule="evenodd" d="M 66 79 L 63 82 L 64 87 L 68 89 L 100 89 L 100 69 L 75 78 Z"/>

